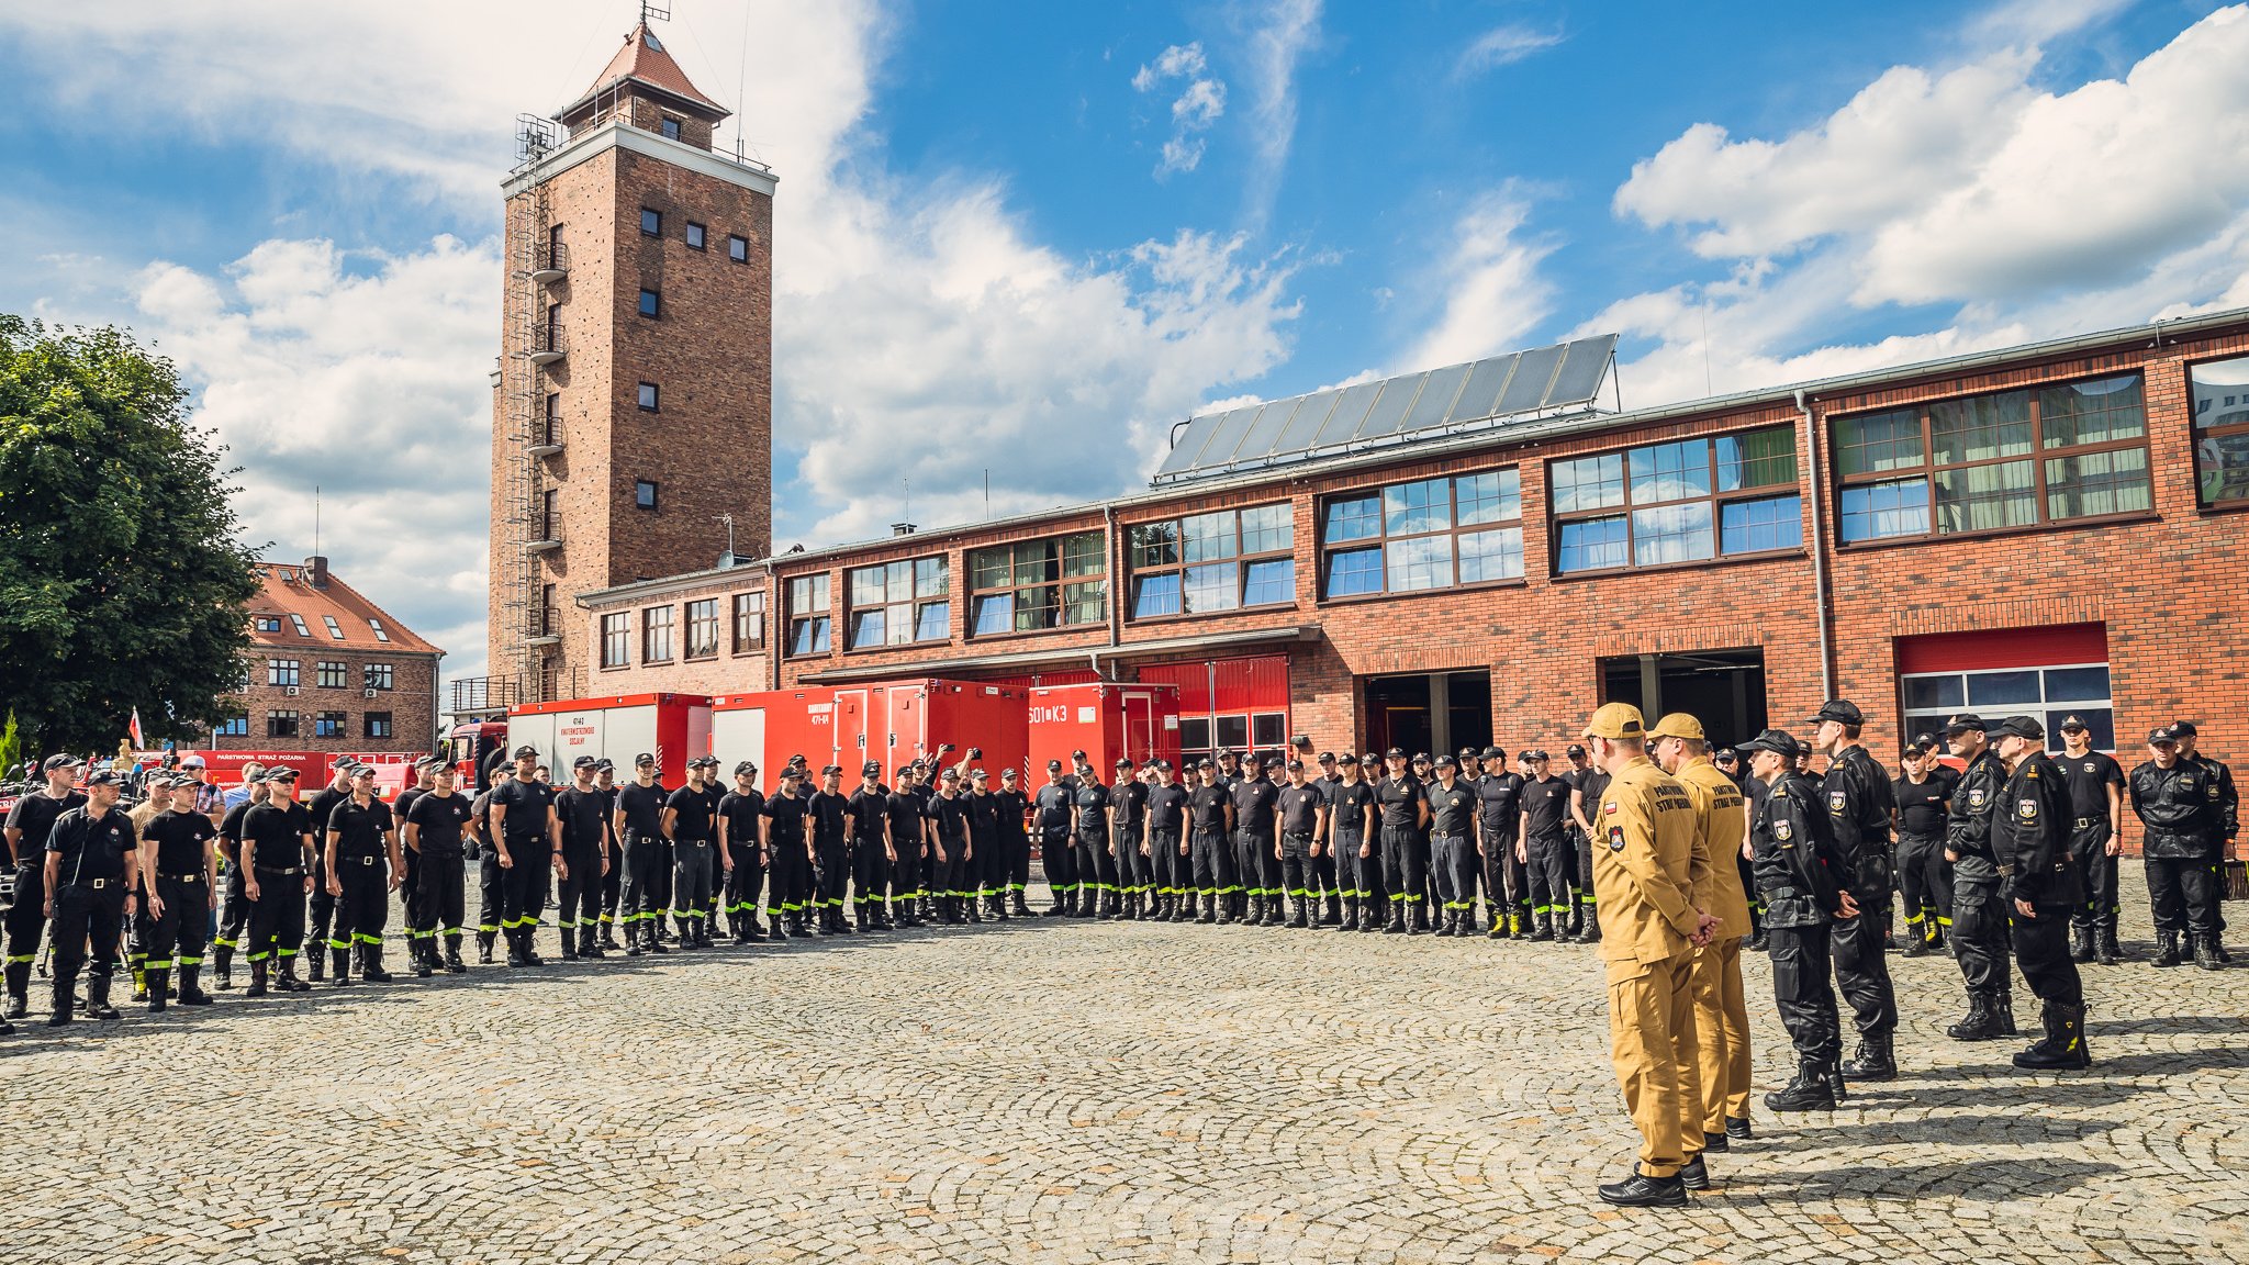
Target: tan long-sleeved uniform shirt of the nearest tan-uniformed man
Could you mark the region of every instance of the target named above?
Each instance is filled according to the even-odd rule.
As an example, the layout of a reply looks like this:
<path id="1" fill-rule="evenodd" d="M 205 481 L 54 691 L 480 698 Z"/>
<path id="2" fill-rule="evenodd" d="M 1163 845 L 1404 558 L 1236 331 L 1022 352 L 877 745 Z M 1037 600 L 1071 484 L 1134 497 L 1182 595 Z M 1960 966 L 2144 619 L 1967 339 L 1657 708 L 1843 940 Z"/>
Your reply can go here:
<path id="1" fill-rule="evenodd" d="M 1604 961 L 1664 961 L 1693 945 L 1696 810 L 1687 788 L 1635 756 L 1592 817 L 1592 891 Z"/>

